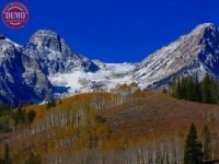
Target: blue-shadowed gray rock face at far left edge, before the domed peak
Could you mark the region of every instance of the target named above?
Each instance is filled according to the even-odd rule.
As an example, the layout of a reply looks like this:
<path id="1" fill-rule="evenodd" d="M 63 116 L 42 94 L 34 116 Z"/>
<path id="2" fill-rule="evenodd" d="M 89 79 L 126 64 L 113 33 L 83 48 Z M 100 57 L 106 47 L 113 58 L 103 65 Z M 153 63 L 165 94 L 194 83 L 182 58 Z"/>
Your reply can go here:
<path id="1" fill-rule="evenodd" d="M 37 62 L 24 56 L 13 43 L 0 40 L 0 103 L 16 106 L 39 103 L 51 94 L 51 85 Z"/>

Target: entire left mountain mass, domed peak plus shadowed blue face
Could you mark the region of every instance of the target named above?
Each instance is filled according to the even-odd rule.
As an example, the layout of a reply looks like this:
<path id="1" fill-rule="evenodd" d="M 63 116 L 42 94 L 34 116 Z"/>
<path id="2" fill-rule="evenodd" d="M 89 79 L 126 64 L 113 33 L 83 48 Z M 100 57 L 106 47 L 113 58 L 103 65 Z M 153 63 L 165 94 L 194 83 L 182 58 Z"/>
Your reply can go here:
<path id="1" fill-rule="evenodd" d="M 100 68 L 88 58 L 72 52 L 51 31 L 37 31 L 24 45 L 0 35 L 0 103 L 42 103 L 66 87 L 51 85 L 48 77 L 73 70 L 95 72 Z M 66 89 L 66 90 L 65 90 Z M 61 91 L 60 91 L 61 90 Z"/>

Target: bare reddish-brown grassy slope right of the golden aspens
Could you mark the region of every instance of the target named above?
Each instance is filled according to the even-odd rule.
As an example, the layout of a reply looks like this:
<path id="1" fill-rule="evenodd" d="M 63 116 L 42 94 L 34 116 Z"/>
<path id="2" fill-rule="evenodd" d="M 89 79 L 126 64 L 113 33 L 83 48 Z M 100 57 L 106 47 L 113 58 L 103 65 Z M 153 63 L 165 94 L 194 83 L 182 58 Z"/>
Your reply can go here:
<path id="1" fill-rule="evenodd" d="M 192 122 L 199 131 L 205 125 L 217 130 L 219 106 L 159 95 L 108 108 L 100 116 L 107 121 L 115 138 L 162 138 L 177 133 L 185 136 Z"/>

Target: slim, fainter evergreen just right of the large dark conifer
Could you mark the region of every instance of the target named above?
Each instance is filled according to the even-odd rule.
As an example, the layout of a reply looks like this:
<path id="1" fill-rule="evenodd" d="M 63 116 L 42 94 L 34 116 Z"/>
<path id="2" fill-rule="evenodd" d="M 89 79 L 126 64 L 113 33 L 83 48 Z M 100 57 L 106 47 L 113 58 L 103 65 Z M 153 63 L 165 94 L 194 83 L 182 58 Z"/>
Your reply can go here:
<path id="1" fill-rule="evenodd" d="M 204 160 L 210 159 L 210 131 L 208 129 L 208 126 L 205 126 L 203 133 L 203 157 Z"/>

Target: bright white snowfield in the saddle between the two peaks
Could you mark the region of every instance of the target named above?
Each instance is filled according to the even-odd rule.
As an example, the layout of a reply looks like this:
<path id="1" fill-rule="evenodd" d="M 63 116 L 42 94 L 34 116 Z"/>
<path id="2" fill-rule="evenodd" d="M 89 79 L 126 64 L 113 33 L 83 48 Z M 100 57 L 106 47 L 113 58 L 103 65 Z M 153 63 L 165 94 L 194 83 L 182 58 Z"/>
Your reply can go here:
<path id="1" fill-rule="evenodd" d="M 101 67 L 96 72 L 76 70 L 53 74 L 48 79 L 53 85 L 68 89 L 67 95 L 96 89 L 110 91 L 118 84 L 131 83 L 132 72 L 137 66 L 137 63 L 103 63 L 101 61 L 94 61 L 94 63 Z"/>

